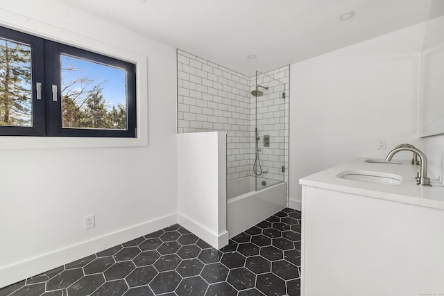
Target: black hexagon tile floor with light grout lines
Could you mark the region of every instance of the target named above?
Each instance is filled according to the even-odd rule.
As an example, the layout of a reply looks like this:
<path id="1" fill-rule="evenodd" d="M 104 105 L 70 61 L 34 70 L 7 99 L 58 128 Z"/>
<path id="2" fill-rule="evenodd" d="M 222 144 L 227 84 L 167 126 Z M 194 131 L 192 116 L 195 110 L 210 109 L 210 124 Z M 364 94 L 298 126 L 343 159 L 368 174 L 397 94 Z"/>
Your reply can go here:
<path id="1" fill-rule="evenodd" d="M 0 289 L 0 296 L 300 295 L 300 212 L 216 250 L 180 225 Z"/>

